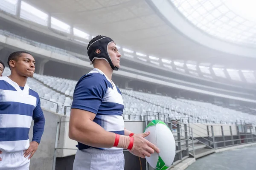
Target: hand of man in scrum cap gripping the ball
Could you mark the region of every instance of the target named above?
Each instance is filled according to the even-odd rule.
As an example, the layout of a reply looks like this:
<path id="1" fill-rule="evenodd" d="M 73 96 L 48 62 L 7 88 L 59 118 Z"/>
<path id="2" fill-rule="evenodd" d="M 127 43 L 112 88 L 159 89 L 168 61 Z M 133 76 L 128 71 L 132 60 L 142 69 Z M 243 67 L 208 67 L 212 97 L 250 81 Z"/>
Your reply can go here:
<path id="1" fill-rule="evenodd" d="M 134 146 L 130 150 L 132 154 L 145 158 L 145 156 L 150 157 L 150 155 L 155 151 L 157 153 L 160 152 L 160 150 L 154 144 L 145 139 L 145 137 L 149 134 L 150 132 L 146 132 L 132 136 L 134 138 Z"/>

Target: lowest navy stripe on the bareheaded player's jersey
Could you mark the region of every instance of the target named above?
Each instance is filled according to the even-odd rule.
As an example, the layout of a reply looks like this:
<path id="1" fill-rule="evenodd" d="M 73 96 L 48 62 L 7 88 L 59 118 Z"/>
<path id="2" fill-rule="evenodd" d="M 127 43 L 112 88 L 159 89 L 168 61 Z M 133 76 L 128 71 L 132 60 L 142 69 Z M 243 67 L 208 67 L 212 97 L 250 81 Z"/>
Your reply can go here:
<path id="1" fill-rule="evenodd" d="M 26 127 L 1 127 L 1 141 L 21 141 L 29 139 L 29 128 Z"/>

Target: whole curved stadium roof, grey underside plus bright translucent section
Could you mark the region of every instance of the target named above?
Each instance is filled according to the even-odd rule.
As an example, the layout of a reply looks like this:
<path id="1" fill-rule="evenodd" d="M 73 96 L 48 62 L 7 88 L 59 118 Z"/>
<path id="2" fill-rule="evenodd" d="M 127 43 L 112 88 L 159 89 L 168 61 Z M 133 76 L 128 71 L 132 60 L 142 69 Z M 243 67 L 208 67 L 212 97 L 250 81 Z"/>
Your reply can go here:
<path id="1" fill-rule="evenodd" d="M 108 35 L 138 55 L 255 68 L 255 22 L 223 0 L 23 1 L 86 34 Z"/>

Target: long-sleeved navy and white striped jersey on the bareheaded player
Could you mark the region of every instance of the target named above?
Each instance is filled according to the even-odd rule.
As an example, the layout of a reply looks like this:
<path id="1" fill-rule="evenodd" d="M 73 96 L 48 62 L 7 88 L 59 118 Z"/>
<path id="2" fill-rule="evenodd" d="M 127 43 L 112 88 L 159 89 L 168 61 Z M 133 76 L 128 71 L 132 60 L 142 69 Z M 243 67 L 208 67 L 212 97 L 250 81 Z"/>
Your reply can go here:
<path id="1" fill-rule="evenodd" d="M 26 150 L 32 119 L 37 118 L 44 119 L 38 94 L 28 85 L 22 90 L 9 77 L 0 77 L 0 150 Z M 42 125 L 44 128 L 44 122 L 40 125 L 40 132 L 34 129 L 37 135 L 33 134 L 32 140 L 38 143 L 43 133 Z"/>

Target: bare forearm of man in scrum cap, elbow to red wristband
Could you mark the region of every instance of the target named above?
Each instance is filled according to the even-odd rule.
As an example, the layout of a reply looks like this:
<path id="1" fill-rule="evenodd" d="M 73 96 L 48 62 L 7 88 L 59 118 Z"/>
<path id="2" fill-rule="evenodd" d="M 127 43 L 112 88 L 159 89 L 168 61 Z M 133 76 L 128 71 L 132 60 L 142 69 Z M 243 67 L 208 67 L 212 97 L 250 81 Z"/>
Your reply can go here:
<path id="1" fill-rule="evenodd" d="M 116 135 L 108 132 L 91 120 L 87 120 L 82 125 L 70 126 L 70 139 L 87 144 L 92 147 L 113 147 Z"/>

